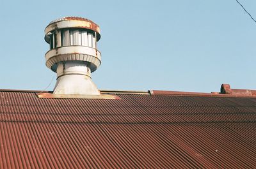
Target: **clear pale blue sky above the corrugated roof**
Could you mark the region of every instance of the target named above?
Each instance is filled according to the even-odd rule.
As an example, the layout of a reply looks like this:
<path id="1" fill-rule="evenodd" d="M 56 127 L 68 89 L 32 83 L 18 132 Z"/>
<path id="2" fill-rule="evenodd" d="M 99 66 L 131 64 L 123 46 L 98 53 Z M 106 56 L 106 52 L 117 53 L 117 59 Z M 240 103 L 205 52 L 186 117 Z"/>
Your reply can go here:
<path id="1" fill-rule="evenodd" d="M 256 1 L 240 0 L 256 18 Z M 99 89 L 220 91 L 256 89 L 256 24 L 236 0 L 0 0 L 1 89 L 52 91 L 44 28 L 56 18 L 99 24 Z"/>

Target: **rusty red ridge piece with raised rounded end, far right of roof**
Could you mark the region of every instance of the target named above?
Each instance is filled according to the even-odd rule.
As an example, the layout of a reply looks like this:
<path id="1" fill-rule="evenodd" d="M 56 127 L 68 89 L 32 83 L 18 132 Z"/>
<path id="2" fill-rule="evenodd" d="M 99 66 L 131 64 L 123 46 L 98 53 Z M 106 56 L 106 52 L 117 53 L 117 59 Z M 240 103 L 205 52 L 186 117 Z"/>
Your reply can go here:
<path id="1" fill-rule="evenodd" d="M 222 84 L 220 88 L 220 93 L 231 94 L 236 96 L 256 96 L 256 90 L 231 89 L 229 84 Z"/>

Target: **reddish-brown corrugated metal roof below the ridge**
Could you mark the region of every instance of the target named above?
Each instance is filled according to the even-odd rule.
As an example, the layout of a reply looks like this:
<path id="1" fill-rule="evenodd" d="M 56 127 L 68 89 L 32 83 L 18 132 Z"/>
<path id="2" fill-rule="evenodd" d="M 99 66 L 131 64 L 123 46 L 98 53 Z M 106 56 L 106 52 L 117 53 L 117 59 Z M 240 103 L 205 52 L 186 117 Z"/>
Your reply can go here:
<path id="1" fill-rule="evenodd" d="M 256 97 L 115 94 L 0 91 L 0 168 L 255 168 Z"/>

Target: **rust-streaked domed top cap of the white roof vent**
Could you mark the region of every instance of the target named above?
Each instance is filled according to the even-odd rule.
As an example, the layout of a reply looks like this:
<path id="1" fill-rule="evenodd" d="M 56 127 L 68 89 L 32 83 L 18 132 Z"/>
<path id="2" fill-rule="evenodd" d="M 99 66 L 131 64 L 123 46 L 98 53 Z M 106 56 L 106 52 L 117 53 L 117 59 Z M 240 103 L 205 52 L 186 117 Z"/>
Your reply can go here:
<path id="1" fill-rule="evenodd" d="M 51 34 L 52 31 L 57 29 L 65 28 L 83 28 L 95 31 L 97 33 L 97 41 L 100 40 L 100 27 L 92 22 L 92 20 L 82 17 L 62 17 L 56 20 L 52 20 L 52 22 L 50 22 L 48 26 L 45 27 L 44 31 L 45 35 L 47 35 Z"/>

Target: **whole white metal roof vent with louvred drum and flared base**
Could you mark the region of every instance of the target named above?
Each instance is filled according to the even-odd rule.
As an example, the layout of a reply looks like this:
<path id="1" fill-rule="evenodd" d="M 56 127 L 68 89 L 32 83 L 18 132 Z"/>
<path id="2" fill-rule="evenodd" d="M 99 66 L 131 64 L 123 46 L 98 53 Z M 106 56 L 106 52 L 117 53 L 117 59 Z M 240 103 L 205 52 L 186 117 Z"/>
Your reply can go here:
<path id="1" fill-rule="evenodd" d="M 99 40 L 99 26 L 86 18 L 63 17 L 50 22 L 45 28 L 45 41 L 50 45 L 45 61 L 57 73 L 54 94 L 100 95 L 91 78 L 101 63 Z"/>

